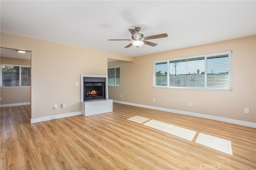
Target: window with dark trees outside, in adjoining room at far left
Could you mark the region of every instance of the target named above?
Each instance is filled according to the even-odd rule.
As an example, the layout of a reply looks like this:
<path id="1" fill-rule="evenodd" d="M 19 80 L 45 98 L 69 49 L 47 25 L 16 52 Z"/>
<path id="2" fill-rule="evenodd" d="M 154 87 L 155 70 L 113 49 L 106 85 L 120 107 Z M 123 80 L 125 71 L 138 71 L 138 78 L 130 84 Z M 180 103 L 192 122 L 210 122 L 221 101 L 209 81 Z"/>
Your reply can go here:
<path id="1" fill-rule="evenodd" d="M 1 64 L 1 87 L 29 87 L 30 66 Z"/>

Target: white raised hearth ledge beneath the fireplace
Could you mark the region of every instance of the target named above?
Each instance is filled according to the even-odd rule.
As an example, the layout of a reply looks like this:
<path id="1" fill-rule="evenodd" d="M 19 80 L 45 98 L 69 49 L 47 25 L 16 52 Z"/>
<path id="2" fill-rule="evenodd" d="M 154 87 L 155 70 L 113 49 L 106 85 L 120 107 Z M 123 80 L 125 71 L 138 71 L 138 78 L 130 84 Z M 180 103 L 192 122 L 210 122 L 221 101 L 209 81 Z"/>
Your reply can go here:
<path id="1" fill-rule="evenodd" d="M 81 115 L 90 116 L 113 111 L 113 100 L 81 102 Z"/>

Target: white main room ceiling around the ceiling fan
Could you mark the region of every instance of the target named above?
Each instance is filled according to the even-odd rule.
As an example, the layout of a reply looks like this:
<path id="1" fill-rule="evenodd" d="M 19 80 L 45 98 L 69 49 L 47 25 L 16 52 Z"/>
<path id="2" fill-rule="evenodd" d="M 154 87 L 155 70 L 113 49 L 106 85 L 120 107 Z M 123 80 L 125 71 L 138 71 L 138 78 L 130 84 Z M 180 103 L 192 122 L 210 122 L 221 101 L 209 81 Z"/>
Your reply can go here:
<path id="1" fill-rule="evenodd" d="M 256 1 L 0 1 L 1 32 L 137 57 L 256 35 Z M 141 27 L 156 47 L 124 48 Z"/>

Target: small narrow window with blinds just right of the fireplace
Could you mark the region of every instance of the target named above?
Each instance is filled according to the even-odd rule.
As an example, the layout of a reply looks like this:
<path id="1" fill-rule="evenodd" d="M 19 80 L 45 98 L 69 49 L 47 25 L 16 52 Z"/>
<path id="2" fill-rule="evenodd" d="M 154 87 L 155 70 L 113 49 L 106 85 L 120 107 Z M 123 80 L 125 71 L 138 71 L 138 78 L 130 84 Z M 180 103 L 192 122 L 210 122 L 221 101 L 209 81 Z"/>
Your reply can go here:
<path id="1" fill-rule="evenodd" d="M 108 68 L 108 86 L 120 86 L 120 66 Z"/>

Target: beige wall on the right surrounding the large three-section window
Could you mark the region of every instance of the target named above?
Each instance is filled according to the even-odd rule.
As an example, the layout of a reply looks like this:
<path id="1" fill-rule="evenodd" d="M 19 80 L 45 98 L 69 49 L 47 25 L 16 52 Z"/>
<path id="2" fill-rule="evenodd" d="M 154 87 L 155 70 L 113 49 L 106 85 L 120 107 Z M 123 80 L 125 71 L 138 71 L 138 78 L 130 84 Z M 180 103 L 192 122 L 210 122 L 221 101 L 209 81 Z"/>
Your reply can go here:
<path id="1" fill-rule="evenodd" d="M 232 92 L 153 88 L 153 61 L 230 50 Z M 256 122 L 256 36 L 146 55 L 134 62 L 111 62 L 108 66 L 120 66 L 120 87 L 108 88 L 110 99 Z M 245 108 L 250 109 L 249 114 L 244 113 Z"/>

